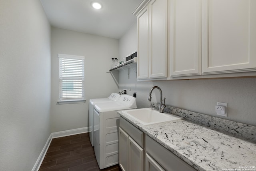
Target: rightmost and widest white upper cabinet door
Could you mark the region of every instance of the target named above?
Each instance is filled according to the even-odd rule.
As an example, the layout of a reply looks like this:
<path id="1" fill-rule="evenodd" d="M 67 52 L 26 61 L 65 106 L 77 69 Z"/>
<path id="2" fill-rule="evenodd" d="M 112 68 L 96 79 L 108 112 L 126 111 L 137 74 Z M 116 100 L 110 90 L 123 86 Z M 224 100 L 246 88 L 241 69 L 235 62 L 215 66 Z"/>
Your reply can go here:
<path id="1" fill-rule="evenodd" d="M 203 0 L 202 74 L 256 70 L 256 1 Z"/>

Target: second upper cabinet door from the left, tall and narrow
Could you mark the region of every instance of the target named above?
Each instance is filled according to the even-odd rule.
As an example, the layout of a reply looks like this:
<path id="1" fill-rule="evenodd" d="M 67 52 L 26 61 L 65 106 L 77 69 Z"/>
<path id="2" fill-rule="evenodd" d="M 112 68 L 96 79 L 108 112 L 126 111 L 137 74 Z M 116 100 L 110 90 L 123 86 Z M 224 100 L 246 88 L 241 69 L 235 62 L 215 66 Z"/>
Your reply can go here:
<path id="1" fill-rule="evenodd" d="M 150 8 L 149 78 L 167 77 L 167 0 L 152 0 Z"/>

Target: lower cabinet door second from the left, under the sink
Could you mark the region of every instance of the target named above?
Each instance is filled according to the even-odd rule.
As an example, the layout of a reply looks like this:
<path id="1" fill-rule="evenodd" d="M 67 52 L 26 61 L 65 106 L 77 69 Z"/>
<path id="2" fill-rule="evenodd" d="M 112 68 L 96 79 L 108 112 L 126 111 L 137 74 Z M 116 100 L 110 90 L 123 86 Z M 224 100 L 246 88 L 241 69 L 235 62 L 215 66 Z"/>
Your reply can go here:
<path id="1" fill-rule="evenodd" d="M 129 137 L 129 171 L 143 171 L 143 149 Z"/>

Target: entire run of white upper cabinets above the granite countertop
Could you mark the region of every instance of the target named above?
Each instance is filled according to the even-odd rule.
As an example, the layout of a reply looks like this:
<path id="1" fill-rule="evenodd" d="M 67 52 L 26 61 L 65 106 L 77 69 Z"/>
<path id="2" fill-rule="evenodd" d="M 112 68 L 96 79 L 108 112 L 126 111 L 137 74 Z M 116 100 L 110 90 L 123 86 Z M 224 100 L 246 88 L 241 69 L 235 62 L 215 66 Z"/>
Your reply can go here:
<path id="1" fill-rule="evenodd" d="M 256 76 L 255 9 L 256 0 L 142 0 L 138 80 Z"/>

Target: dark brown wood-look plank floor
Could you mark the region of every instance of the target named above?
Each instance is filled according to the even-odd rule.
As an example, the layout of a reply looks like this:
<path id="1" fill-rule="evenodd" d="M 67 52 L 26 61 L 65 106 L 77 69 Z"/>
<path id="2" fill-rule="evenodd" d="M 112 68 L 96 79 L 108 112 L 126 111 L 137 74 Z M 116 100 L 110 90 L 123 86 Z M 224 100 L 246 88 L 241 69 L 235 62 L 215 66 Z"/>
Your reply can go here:
<path id="1" fill-rule="evenodd" d="M 121 171 L 119 165 L 98 167 L 89 133 L 52 139 L 39 171 Z"/>

